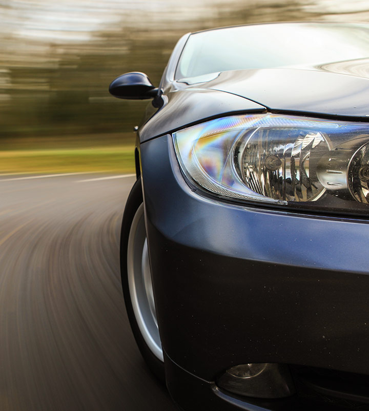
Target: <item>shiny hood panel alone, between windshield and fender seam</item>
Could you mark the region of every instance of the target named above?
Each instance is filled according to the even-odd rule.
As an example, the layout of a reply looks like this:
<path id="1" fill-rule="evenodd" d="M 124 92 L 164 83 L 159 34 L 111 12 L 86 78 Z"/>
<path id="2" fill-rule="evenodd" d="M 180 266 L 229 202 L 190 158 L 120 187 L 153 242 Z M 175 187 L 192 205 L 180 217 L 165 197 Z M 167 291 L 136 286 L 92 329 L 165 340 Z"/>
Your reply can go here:
<path id="1" fill-rule="evenodd" d="M 368 59 L 314 68 L 234 70 L 212 77 L 196 87 L 232 93 L 273 111 L 369 116 Z M 179 81 L 195 86 L 191 79 Z"/>

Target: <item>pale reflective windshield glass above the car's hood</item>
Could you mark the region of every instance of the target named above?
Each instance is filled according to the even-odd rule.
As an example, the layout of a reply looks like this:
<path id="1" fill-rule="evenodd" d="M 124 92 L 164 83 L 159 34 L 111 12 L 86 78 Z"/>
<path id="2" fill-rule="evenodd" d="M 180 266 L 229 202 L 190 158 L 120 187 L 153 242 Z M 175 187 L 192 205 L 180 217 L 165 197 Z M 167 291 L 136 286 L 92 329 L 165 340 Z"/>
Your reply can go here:
<path id="1" fill-rule="evenodd" d="M 182 51 L 175 78 L 368 58 L 368 27 L 360 24 L 285 23 L 194 33 Z"/>

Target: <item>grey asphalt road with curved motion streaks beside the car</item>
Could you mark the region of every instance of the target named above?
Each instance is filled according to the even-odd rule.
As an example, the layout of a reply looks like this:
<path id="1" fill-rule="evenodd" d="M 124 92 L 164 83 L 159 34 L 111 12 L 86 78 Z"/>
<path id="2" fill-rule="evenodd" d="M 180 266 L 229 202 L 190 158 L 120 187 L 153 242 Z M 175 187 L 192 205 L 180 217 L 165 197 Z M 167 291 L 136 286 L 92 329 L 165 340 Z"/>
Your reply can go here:
<path id="1" fill-rule="evenodd" d="M 121 293 L 134 177 L 106 177 L 0 176 L 2 411 L 176 409 L 140 357 Z"/>

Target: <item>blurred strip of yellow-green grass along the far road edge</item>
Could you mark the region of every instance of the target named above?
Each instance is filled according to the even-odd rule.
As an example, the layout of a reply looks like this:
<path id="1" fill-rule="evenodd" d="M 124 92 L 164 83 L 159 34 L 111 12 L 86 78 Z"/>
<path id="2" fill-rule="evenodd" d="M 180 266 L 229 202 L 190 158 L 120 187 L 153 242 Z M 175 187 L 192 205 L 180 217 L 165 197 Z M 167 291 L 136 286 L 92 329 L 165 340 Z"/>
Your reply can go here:
<path id="1" fill-rule="evenodd" d="M 64 140 L 49 139 L 43 143 L 26 140 L 22 144 L 15 144 L 14 141 L 13 147 L 3 146 L 0 151 L 0 174 L 84 171 L 125 174 L 135 171 L 134 138 Z M 104 142 L 105 146 L 102 145 Z"/>

